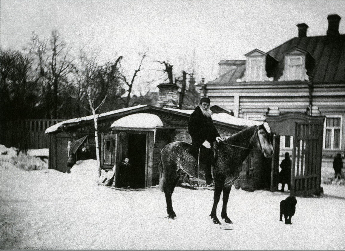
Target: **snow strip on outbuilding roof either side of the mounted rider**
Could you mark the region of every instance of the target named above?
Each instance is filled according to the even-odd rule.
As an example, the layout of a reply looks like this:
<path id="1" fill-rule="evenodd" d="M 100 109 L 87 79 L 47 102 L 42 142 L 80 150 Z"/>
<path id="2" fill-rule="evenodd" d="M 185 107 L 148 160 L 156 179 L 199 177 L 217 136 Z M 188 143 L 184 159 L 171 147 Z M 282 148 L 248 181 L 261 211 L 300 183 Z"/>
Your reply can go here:
<path id="1" fill-rule="evenodd" d="M 194 112 L 194 110 L 182 110 L 182 109 L 168 108 L 168 107 L 164 107 L 163 109 L 185 113 L 188 115 Z M 214 121 L 223 122 L 223 123 L 227 123 L 231 125 L 248 126 L 248 127 L 263 124 L 262 121 L 245 119 L 245 118 L 237 118 L 227 113 L 214 113 L 212 114 L 212 119 Z"/>

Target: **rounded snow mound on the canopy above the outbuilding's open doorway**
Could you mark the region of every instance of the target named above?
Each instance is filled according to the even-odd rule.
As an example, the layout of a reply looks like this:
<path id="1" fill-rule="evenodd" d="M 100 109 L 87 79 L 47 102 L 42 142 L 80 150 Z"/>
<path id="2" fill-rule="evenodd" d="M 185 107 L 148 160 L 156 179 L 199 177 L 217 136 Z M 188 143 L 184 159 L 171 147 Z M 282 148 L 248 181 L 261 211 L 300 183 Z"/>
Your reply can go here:
<path id="1" fill-rule="evenodd" d="M 162 120 L 150 113 L 136 113 L 116 120 L 110 128 L 125 127 L 125 128 L 156 128 L 157 126 L 163 126 Z"/>

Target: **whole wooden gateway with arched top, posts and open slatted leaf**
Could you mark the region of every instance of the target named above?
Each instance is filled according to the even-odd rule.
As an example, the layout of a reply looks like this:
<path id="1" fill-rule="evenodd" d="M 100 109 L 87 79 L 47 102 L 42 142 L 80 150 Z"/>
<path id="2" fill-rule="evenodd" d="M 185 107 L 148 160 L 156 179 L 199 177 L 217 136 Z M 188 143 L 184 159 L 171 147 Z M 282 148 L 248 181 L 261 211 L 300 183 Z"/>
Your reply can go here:
<path id="1" fill-rule="evenodd" d="M 319 194 L 321 192 L 321 160 L 323 116 L 303 113 L 285 113 L 266 116 L 275 134 L 272 160 L 271 191 L 278 188 L 279 135 L 294 136 L 291 167 L 291 195 Z"/>

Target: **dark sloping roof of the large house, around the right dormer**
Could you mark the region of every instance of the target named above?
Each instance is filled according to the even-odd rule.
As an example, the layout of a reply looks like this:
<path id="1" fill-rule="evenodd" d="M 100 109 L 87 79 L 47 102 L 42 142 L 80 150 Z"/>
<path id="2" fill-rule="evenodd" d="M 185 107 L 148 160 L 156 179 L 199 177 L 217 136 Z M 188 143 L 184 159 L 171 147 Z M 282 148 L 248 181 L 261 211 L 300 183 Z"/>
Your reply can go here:
<path id="1" fill-rule="evenodd" d="M 284 52 L 298 47 L 309 52 L 315 66 L 312 70 L 314 83 L 345 80 L 345 34 L 339 36 L 318 36 L 293 38 L 267 52 L 284 68 Z"/>

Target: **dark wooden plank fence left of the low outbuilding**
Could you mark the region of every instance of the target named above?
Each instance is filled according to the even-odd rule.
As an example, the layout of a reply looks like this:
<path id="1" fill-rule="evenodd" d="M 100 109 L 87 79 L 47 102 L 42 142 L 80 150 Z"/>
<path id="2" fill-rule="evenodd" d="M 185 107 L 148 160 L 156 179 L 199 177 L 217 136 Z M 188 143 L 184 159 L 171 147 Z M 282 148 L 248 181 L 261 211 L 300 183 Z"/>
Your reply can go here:
<path id="1" fill-rule="evenodd" d="M 48 127 L 64 119 L 25 119 L 1 125 L 0 143 L 7 147 L 27 149 L 48 148 Z"/>

